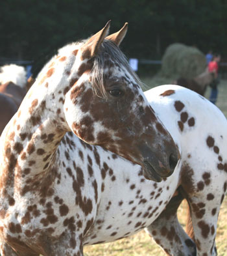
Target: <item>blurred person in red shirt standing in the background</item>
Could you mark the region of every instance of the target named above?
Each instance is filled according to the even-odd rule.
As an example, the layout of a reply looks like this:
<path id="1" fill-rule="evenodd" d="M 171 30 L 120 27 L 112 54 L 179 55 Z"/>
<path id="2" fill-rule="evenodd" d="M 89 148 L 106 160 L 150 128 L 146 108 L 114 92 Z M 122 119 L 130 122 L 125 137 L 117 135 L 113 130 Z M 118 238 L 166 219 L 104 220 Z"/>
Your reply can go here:
<path id="1" fill-rule="evenodd" d="M 217 85 L 219 84 L 219 78 L 218 78 L 218 70 L 219 70 L 219 61 L 221 61 L 221 55 L 214 55 L 212 61 L 208 64 L 208 71 L 210 73 L 213 73 L 214 79 L 211 83 L 211 94 L 209 96 L 210 102 L 213 104 L 217 101 Z"/>

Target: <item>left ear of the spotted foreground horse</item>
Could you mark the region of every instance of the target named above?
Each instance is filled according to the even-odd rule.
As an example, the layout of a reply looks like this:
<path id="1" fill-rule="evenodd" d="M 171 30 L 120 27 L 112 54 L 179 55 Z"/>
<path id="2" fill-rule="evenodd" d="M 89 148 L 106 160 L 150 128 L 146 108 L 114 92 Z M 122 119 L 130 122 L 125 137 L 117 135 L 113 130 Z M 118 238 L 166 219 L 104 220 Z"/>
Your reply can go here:
<path id="1" fill-rule="evenodd" d="M 91 57 L 95 57 L 99 51 L 99 47 L 101 46 L 104 38 L 108 35 L 110 29 L 110 20 L 106 23 L 103 29 L 96 33 L 95 35 L 91 36 L 88 39 L 88 42 L 82 46 L 82 57 L 84 59 L 88 59 Z"/>

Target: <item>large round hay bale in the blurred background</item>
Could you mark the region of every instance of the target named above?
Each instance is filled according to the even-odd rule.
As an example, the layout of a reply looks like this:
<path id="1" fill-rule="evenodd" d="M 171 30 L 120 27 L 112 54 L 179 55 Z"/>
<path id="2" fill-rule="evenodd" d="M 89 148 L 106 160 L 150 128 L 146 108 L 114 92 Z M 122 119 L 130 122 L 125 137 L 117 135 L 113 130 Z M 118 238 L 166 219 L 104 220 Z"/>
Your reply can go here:
<path id="1" fill-rule="evenodd" d="M 206 66 L 206 57 L 197 48 L 171 44 L 163 55 L 159 76 L 192 79 L 204 72 Z"/>

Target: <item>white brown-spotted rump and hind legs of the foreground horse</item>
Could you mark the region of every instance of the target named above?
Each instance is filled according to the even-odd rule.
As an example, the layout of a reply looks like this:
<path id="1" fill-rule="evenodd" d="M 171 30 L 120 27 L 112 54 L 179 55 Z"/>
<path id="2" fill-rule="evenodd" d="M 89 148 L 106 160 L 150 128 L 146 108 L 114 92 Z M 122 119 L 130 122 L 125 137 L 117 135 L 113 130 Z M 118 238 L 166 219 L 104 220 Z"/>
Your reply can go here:
<path id="1" fill-rule="evenodd" d="M 158 186 L 154 183 L 152 197 L 161 189 L 159 200 L 169 203 L 147 231 L 168 255 L 215 256 L 217 218 L 227 188 L 226 118 L 203 96 L 176 85 L 156 87 L 145 95 L 181 154 L 174 174 Z M 176 216 L 184 198 L 191 215 L 187 234 Z"/>

